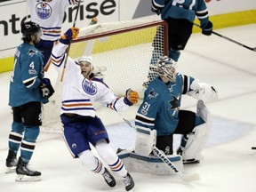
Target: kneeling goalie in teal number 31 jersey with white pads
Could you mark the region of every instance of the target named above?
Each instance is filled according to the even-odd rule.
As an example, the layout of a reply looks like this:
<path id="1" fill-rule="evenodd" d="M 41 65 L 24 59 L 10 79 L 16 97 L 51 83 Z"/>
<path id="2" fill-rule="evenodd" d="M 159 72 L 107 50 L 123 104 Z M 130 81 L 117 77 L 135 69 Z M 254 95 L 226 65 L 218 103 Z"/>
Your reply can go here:
<path id="1" fill-rule="evenodd" d="M 164 56 L 157 62 L 159 76 L 148 85 L 144 99 L 137 111 L 135 125 L 137 128 L 156 132 L 156 148 L 172 155 L 173 134 L 181 134 L 180 148 L 177 153 L 183 163 L 199 163 L 201 152 L 211 130 L 211 116 L 203 100 L 217 99 L 216 90 L 209 84 L 200 83 L 191 76 L 176 73 L 175 61 Z M 197 111 L 180 110 L 181 95 L 194 97 Z M 141 136 L 142 137 L 138 137 Z M 138 132 L 135 153 L 145 155 L 145 146 L 153 141 L 143 139 Z M 147 148 L 146 148 L 147 151 Z"/>

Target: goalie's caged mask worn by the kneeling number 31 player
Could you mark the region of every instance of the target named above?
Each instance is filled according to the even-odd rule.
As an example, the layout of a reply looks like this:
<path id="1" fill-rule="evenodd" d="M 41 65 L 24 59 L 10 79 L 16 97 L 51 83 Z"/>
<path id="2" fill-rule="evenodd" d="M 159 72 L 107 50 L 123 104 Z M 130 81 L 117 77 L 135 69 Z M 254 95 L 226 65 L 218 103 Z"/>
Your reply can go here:
<path id="1" fill-rule="evenodd" d="M 164 76 L 169 81 L 176 81 L 176 63 L 171 58 L 164 56 L 157 60 L 157 71 L 160 76 Z"/>

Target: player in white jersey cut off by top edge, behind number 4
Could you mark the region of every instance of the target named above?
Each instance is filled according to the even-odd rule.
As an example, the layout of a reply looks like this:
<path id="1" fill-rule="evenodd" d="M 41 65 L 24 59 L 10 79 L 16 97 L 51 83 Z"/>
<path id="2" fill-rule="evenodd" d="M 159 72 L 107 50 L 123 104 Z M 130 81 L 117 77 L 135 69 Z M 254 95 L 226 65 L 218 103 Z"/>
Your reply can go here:
<path id="1" fill-rule="evenodd" d="M 54 41 L 61 35 L 65 10 L 79 0 L 27 0 L 30 17 L 42 28 L 42 36 L 36 48 L 44 55 L 44 68 L 49 68 Z"/>

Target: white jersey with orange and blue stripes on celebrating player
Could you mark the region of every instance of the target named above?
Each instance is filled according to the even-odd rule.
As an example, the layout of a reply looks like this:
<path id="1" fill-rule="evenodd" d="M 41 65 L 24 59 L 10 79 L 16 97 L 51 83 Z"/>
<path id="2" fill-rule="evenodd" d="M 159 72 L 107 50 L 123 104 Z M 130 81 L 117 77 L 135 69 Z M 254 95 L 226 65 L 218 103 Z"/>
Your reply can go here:
<path id="1" fill-rule="evenodd" d="M 55 44 L 52 49 L 52 64 L 62 73 L 66 60 L 66 44 Z M 68 57 L 65 74 L 62 80 L 62 107 L 60 114 L 74 113 L 80 116 L 95 116 L 94 102 L 116 111 L 127 108 L 124 97 L 118 98 L 101 79 L 84 78 L 79 64 Z"/>

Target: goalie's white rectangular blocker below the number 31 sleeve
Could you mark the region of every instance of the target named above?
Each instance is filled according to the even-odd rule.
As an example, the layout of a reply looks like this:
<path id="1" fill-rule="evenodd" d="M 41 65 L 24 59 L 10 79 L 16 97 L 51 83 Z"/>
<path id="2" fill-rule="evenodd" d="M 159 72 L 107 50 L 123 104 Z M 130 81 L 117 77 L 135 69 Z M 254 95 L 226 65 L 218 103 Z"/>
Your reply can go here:
<path id="1" fill-rule="evenodd" d="M 142 156 L 148 156 L 156 145 L 156 130 L 137 127 L 135 152 Z"/>

